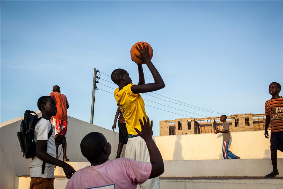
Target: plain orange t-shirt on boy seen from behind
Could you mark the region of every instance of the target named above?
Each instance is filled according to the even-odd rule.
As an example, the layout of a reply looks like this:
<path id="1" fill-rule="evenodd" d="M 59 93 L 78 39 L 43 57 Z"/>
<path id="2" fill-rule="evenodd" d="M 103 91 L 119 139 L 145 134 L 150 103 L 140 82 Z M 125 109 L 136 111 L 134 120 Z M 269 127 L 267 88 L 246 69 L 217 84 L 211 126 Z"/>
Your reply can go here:
<path id="1" fill-rule="evenodd" d="M 50 97 L 55 98 L 56 100 L 56 106 L 57 106 L 57 114 L 56 116 L 53 116 L 55 119 L 63 120 L 63 121 L 68 121 L 68 115 L 67 115 L 67 104 L 68 100 L 66 95 L 63 95 L 58 92 L 51 92 Z"/>

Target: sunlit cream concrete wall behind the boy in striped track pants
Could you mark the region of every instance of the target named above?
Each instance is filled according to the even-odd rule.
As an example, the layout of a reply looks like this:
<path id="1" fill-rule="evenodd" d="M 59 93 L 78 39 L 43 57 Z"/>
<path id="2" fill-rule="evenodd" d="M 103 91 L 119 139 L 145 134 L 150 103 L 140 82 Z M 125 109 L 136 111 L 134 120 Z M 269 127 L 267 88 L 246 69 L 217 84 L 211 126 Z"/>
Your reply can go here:
<path id="1" fill-rule="evenodd" d="M 242 159 L 270 158 L 270 138 L 264 131 L 233 132 L 231 139 L 230 151 Z M 163 160 L 223 159 L 221 133 L 156 136 L 155 141 Z M 283 158 L 283 152 L 277 154 Z"/>

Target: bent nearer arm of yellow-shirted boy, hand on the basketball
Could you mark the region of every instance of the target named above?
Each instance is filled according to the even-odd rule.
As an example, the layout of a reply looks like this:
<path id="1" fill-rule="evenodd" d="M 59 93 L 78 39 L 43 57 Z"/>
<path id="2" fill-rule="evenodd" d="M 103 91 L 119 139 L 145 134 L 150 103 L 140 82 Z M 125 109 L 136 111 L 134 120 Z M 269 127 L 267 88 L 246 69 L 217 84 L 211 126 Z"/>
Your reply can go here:
<path id="1" fill-rule="evenodd" d="M 141 47 L 141 45 L 139 45 L 139 48 L 136 47 L 136 49 L 140 53 L 140 55 L 136 55 L 136 57 L 138 57 L 139 59 L 141 59 L 143 62 L 145 62 L 147 64 L 147 67 L 150 70 L 152 77 L 154 79 L 154 83 L 131 86 L 131 90 L 135 94 L 138 94 L 138 93 L 141 93 L 141 92 L 157 91 L 157 90 L 165 87 L 163 79 L 161 78 L 160 74 L 156 70 L 155 66 L 150 61 L 150 55 L 149 55 L 149 52 L 148 52 L 148 45 L 147 45 L 147 47 L 145 47 L 144 43 L 142 45 L 143 45 L 143 48 Z M 141 76 L 139 76 L 139 77 L 141 77 Z"/>

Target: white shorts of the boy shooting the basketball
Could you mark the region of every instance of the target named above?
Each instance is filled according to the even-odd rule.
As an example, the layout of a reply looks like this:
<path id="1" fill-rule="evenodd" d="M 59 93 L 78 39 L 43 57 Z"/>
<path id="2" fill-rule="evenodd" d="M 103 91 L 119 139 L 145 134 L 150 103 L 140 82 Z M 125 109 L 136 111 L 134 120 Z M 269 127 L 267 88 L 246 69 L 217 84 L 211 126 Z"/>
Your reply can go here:
<path id="1" fill-rule="evenodd" d="M 154 137 L 152 136 L 155 142 Z M 137 136 L 133 138 L 128 138 L 128 143 L 126 145 L 125 158 L 130 158 L 137 161 L 150 162 L 150 156 L 148 153 L 147 145 L 145 144 L 142 137 Z M 148 179 L 142 185 L 138 185 L 137 188 L 160 188 L 159 177 L 153 179 Z"/>

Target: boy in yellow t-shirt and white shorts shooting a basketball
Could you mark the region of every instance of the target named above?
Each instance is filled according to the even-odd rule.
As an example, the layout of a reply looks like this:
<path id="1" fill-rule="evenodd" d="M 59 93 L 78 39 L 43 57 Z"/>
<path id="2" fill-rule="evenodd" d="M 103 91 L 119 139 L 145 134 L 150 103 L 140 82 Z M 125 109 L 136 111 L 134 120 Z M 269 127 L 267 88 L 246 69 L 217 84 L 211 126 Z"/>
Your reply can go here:
<path id="1" fill-rule="evenodd" d="M 143 162 L 150 162 L 146 143 L 135 130 L 141 130 L 139 119 L 142 119 L 142 117 L 147 117 L 144 109 L 144 100 L 139 93 L 157 91 L 164 88 L 165 84 L 160 74 L 150 61 L 148 46 L 145 47 L 144 43 L 142 44 L 142 46 L 139 45 L 139 48 L 136 47 L 136 49 L 140 53 L 140 55 L 136 56 L 146 63 L 153 76 L 154 83 L 145 84 L 144 73 L 141 64 L 137 64 L 139 70 L 139 84 L 132 84 L 132 80 L 128 72 L 123 69 L 114 70 L 111 74 L 111 79 L 115 84 L 119 86 L 114 91 L 114 97 L 117 101 L 117 105 L 123 113 L 129 134 L 128 143 L 126 145 L 125 158 L 131 158 Z M 153 134 L 152 138 L 154 140 Z M 156 177 L 153 179 L 148 179 L 141 185 L 141 188 L 160 188 L 159 178 Z"/>

